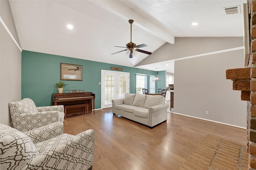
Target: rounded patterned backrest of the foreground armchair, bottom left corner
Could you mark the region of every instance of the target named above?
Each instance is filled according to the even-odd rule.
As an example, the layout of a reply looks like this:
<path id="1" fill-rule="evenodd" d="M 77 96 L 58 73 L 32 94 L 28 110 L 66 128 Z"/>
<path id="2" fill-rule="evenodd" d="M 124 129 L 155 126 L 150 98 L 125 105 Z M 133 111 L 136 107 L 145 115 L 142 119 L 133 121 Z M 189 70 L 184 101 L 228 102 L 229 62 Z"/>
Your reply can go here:
<path id="1" fill-rule="evenodd" d="M 36 146 L 26 134 L 3 124 L 0 124 L 0 132 L 0 169 L 21 170 L 38 154 Z"/>

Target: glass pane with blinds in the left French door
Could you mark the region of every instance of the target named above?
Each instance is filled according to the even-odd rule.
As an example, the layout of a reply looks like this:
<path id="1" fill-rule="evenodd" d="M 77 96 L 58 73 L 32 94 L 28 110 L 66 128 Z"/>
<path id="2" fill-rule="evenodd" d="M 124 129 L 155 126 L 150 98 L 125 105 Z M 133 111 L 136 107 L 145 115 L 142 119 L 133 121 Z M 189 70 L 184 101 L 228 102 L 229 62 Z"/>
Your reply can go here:
<path id="1" fill-rule="evenodd" d="M 105 105 L 111 104 L 114 99 L 114 75 L 105 74 Z"/>

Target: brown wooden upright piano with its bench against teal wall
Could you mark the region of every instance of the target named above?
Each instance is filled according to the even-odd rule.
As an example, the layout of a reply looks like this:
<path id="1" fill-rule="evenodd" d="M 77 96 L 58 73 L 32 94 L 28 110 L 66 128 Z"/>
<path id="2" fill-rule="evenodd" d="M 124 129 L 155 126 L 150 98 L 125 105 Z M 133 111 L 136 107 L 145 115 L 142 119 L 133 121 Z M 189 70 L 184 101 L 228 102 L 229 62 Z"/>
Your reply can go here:
<path id="1" fill-rule="evenodd" d="M 92 113 L 92 100 L 93 100 L 93 109 L 95 110 L 95 94 L 92 92 L 84 92 L 84 93 L 56 93 L 52 95 L 52 103 L 53 105 L 81 105 L 88 104 L 89 105 L 89 113 Z M 69 109 L 66 113 L 67 116 L 72 115 L 80 115 L 84 114 L 84 108 L 73 108 Z M 95 114 L 95 112 L 93 111 Z"/>

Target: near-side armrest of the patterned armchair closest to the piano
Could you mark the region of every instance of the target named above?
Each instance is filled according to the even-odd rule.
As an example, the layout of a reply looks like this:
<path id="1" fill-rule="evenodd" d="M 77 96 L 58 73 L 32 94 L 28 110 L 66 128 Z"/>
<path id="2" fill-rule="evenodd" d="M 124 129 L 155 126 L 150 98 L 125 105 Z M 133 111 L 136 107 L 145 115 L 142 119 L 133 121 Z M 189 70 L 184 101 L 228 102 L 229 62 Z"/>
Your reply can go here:
<path id="1" fill-rule="evenodd" d="M 12 118 L 13 127 L 22 132 L 26 132 L 44 125 L 49 125 L 59 121 L 59 113 L 59 111 L 47 111 L 15 115 Z"/>

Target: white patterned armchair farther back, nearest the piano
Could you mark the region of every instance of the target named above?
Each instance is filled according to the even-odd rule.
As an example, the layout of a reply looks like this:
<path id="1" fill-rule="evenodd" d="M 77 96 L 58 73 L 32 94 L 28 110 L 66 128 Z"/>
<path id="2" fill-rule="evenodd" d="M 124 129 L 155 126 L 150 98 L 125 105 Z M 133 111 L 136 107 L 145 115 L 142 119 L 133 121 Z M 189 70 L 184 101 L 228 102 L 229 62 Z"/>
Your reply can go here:
<path id="1" fill-rule="evenodd" d="M 8 105 L 13 127 L 22 132 L 64 121 L 63 105 L 36 107 L 29 98 L 10 102 Z"/>

